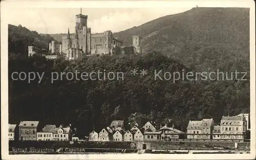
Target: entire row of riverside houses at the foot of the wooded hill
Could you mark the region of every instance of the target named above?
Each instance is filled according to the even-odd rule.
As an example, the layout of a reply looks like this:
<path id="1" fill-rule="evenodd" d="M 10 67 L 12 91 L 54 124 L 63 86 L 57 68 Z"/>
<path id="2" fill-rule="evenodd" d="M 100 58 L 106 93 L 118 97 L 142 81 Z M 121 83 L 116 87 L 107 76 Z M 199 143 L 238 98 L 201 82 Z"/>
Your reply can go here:
<path id="1" fill-rule="evenodd" d="M 77 141 L 76 129 L 71 125 L 39 126 L 39 121 L 21 121 L 18 126 L 9 124 L 9 140 L 20 141 Z M 106 128 L 93 130 L 89 141 L 169 141 L 172 139 L 221 139 L 244 140 L 249 130 L 249 114 L 223 116 L 219 125 L 213 119 L 189 121 L 187 131 L 146 122 L 141 128 L 135 124 L 124 129 L 124 121 L 114 120 Z"/>

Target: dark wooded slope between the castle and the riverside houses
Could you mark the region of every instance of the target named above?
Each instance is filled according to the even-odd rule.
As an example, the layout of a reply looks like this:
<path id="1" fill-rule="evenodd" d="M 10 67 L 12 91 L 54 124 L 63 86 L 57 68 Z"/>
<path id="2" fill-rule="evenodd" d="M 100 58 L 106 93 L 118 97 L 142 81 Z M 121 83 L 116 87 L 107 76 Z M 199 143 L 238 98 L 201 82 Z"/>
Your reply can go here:
<path id="1" fill-rule="evenodd" d="M 9 57 L 9 123 L 39 120 L 46 124 L 73 124 L 78 135 L 98 131 L 112 120 L 124 120 L 126 129 L 135 122 L 175 124 L 185 131 L 189 120 L 249 113 L 247 81 L 202 81 L 179 79 L 175 83 L 154 79 L 155 70 L 189 72 L 195 70 L 160 53 L 141 55 L 88 56 L 81 60 L 46 60 L 44 57 Z M 131 70 L 137 69 L 138 75 Z M 147 74 L 140 75 L 140 70 Z M 123 72 L 117 81 L 69 81 L 66 76 L 51 83 L 52 72 Z M 38 79 L 13 81 L 12 72 L 45 72 Z M 163 75 L 161 75 L 163 76 Z M 230 75 L 229 75 L 230 76 Z M 247 75 L 248 78 L 248 75 Z"/>

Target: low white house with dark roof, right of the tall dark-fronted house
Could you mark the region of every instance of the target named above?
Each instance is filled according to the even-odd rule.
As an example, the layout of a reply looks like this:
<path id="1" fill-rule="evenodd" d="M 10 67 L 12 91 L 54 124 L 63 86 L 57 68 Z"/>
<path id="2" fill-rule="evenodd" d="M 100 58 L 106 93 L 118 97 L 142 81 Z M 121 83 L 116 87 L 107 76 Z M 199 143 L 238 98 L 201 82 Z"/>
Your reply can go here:
<path id="1" fill-rule="evenodd" d="M 37 141 L 53 141 L 53 132 L 55 129 L 55 125 L 46 125 L 41 131 L 36 133 Z"/>

